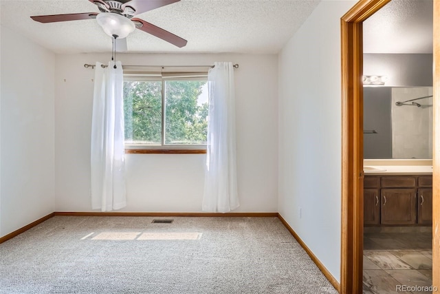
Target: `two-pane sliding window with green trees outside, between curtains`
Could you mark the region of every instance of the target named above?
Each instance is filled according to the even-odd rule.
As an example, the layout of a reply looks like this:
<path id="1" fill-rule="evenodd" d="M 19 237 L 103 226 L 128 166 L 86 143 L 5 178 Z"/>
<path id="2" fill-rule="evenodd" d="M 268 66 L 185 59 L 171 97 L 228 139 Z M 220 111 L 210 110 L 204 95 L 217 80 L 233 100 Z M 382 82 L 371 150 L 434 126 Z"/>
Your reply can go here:
<path id="1" fill-rule="evenodd" d="M 126 147 L 206 149 L 206 73 L 124 76 Z"/>

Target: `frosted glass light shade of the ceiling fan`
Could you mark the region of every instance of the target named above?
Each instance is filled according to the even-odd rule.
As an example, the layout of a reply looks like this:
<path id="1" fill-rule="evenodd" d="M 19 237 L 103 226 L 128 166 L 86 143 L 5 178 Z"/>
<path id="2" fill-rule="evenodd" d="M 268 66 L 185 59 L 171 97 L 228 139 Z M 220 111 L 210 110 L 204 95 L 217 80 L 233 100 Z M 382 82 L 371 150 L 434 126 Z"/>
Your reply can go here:
<path id="1" fill-rule="evenodd" d="M 111 37 L 116 36 L 119 39 L 124 39 L 135 30 L 133 21 L 113 12 L 102 12 L 98 14 L 96 21 L 98 21 L 98 24 L 106 34 Z"/>

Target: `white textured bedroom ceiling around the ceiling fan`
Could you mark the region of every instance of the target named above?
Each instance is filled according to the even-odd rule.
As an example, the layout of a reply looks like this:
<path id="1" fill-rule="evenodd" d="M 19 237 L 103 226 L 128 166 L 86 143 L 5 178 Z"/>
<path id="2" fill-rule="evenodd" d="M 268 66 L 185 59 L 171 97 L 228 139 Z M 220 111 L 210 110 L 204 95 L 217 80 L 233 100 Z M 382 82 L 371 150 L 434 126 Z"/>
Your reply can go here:
<path id="1" fill-rule="evenodd" d="M 148 0 L 146 0 L 148 1 Z M 135 30 L 129 52 L 277 53 L 300 28 L 319 1 L 182 0 L 137 14 L 188 40 L 177 48 Z M 96 20 L 37 23 L 34 15 L 99 12 L 87 0 L 0 0 L 1 25 L 58 54 L 109 52 L 111 38 Z"/>

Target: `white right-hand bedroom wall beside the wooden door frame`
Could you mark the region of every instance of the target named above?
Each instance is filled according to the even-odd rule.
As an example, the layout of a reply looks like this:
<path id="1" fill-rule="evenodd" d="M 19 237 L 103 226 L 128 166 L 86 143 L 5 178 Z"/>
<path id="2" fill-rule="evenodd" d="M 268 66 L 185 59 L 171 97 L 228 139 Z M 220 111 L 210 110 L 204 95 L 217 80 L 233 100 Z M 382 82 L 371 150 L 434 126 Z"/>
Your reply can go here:
<path id="1" fill-rule="evenodd" d="M 338 281 L 340 17 L 355 3 L 322 1 L 278 57 L 278 211 Z"/>

